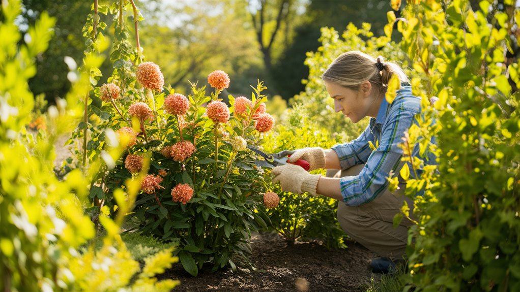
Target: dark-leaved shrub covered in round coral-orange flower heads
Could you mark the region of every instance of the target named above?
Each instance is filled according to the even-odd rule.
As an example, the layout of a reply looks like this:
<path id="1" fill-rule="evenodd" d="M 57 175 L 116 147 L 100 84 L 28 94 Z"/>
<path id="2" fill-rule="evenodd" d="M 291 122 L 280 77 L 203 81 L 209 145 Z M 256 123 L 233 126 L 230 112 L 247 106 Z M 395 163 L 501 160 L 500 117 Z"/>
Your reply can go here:
<path id="1" fill-rule="evenodd" d="M 257 209 L 264 201 L 264 178 L 254 164 L 257 158 L 246 149 L 248 144 L 258 147 L 275 123 L 265 113 L 265 87 L 259 82 L 252 100 L 229 96 L 228 107 L 218 99 L 230 82 L 224 72 L 208 77 L 215 87 L 210 96 L 194 85 L 185 96 L 171 88 L 157 91 L 153 80 L 161 80 L 160 69 L 143 64 L 136 77 L 144 89 L 122 91 L 119 100 L 103 102 L 99 109 L 110 116 L 105 126 L 127 145 L 124 159 L 101 178 L 104 204 L 113 209 L 110 193 L 139 175 L 147 160 L 150 167 L 133 214 L 140 223 L 136 228 L 178 242 L 175 253 L 193 275 L 206 261 L 214 269 L 234 267 L 232 256 L 247 262 L 251 230 L 266 226 L 264 208 Z"/>

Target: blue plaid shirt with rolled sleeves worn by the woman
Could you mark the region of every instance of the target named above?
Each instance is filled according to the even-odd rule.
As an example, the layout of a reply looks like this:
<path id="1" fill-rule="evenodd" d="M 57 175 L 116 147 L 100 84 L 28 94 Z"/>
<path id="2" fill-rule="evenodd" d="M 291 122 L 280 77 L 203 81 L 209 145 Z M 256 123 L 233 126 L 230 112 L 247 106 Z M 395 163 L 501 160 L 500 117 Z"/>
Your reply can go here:
<path id="1" fill-rule="evenodd" d="M 340 180 L 345 204 L 366 204 L 386 190 L 390 171 L 398 174 L 404 165 L 399 144 L 403 142 L 404 133 L 420 110 L 421 99 L 412 95 L 410 86 L 401 86 L 392 104 L 383 98 L 377 117 L 370 118 L 367 129 L 359 137 L 332 147 L 340 158 L 342 169 L 365 163 L 359 175 L 342 177 Z M 369 141 L 374 146 L 379 144 L 379 147 L 372 150 Z M 414 149 L 412 155 L 418 156 L 418 152 Z"/>

